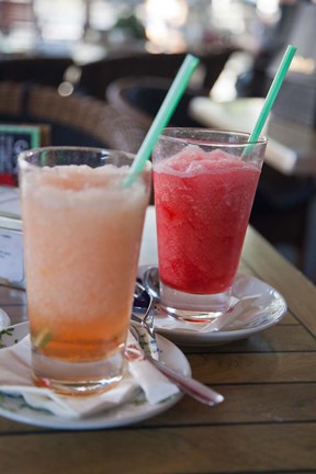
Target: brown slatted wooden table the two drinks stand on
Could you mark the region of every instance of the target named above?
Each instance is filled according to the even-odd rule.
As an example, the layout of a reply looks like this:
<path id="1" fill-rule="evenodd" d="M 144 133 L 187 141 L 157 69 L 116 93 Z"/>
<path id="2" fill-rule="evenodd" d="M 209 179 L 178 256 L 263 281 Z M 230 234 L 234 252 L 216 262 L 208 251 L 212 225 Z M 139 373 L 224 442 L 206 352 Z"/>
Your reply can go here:
<path id="1" fill-rule="evenodd" d="M 153 208 L 142 248 L 157 259 Z M 282 321 L 247 340 L 185 349 L 194 376 L 225 402 L 184 396 L 168 411 L 116 429 L 54 431 L 0 418 L 1 473 L 315 473 L 316 289 L 249 228 L 240 271 L 279 290 Z M 24 293 L 0 287 L 0 305 L 25 319 Z"/>

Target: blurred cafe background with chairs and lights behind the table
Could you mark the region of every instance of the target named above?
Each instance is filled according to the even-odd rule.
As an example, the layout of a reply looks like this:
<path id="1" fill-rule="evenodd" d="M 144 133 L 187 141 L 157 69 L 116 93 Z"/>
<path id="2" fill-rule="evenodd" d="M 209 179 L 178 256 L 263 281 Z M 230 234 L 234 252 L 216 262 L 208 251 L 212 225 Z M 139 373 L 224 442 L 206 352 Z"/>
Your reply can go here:
<path id="1" fill-rule="evenodd" d="M 316 281 L 315 25 L 307 0 L 0 0 L 0 124 L 135 153 L 189 52 L 201 63 L 171 124 L 251 132 L 294 44 L 250 222 Z M 0 134 L 0 166 L 8 147 Z"/>

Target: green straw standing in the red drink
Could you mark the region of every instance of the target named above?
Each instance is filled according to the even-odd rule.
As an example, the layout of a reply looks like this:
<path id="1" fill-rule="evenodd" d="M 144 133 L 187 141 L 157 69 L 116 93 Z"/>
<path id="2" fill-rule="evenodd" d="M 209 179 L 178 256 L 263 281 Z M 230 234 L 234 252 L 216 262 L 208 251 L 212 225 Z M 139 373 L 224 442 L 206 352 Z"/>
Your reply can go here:
<path id="1" fill-rule="evenodd" d="M 253 132 L 250 134 L 248 142 L 257 142 L 259 138 L 259 135 L 263 128 L 263 125 L 267 121 L 267 117 L 272 109 L 272 105 L 278 97 L 278 93 L 280 91 L 280 88 L 282 86 L 282 82 L 285 78 L 285 75 L 287 72 L 287 69 L 292 63 L 292 59 L 296 53 L 296 47 L 289 45 L 285 54 L 283 56 L 283 59 L 279 66 L 279 69 L 275 74 L 275 77 L 273 79 L 272 84 L 270 86 L 269 92 L 267 94 L 267 98 L 264 100 L 262 110 L 260 112 L 260 115 L 257 120 L 257 123 L 255 125 Z M 247 147 L 248 148 L 248 147 Z M 249 151 L 249 150 L 247 150 Z"/>

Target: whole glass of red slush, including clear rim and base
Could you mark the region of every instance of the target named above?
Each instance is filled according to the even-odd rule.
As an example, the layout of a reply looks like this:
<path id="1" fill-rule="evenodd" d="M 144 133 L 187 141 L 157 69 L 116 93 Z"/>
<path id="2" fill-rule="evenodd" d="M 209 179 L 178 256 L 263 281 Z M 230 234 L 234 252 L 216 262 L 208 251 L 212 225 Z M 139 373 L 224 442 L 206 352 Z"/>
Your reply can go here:
<path id="1" fill-rule="evenodd" d="M 267 139 L 166 128 L 154 150 L 160 295 L 179 318 L 225 313 Z"/>

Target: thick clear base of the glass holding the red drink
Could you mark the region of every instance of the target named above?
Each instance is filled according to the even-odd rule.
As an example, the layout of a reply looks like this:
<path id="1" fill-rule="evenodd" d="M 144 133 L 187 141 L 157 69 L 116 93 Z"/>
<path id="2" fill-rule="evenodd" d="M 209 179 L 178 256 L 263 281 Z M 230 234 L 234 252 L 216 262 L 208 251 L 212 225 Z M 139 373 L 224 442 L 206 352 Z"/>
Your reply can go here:
<path id="1" fill-rule="evenodd" d="M 216 294 L 184 293 L 160 282 L 160 306 L 169 316 L 191 323 L 205 323 L 229 308 L 232 289 Z"/>

